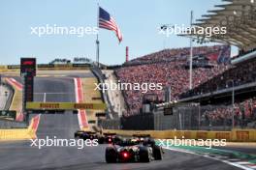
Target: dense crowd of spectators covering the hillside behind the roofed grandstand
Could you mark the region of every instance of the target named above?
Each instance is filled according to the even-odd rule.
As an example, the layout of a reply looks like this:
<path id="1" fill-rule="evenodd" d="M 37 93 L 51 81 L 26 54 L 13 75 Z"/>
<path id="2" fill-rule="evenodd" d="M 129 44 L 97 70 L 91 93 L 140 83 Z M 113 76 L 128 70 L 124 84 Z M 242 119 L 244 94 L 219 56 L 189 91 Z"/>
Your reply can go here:
<path id="1" fill-rule="evenodd" d="M 194 55 L 212 55 L 212 53 L 225 54 L 230 52 L 221 51 L 225 46 L 201 46 L 194 47 Z M 189 59 L 189 48 L 165 49 L 156 53 L 129 62 L 129 67 L 115 70 L 117 78 L 122 83 L 162 83 L 163 89 L 171 87 L 172 100 L 178 99 L 179 95 L 189 89 L 189 71 L 184 65 Z M 230 51 L 230 49 L 229 49 Z M 217 64 L 216 60 L 212 68 L 196 68 L 193 70 L 193 87 L 207 82 L 213 76 L 229 69 L 229 66 Z M 148 91 L 157 94 L 160 100 L 164 100 L 164 90 Z M 124 91 L 124 99 L 128 104 L 128 115 L 139 113 L 142 107 L 144 94 L 141 91 Z"/>

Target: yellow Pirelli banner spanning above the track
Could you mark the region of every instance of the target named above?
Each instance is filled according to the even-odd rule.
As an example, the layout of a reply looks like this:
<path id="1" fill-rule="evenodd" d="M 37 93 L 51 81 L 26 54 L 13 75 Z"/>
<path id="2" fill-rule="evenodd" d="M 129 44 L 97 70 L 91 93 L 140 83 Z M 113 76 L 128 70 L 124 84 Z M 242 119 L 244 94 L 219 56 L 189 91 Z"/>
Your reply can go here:
<path id="1" fill-rule="evenodd" d="M 29 110 L 105 110 L 105 103 L 77 103 L 77 102 L 27 102 Z"/>

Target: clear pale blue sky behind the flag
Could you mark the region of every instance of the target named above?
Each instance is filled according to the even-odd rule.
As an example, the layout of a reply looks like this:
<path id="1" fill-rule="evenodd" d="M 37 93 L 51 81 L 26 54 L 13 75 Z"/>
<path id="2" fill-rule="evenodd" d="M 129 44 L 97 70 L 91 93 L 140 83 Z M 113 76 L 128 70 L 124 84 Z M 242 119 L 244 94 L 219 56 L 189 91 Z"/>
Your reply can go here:
<path id="1" fill-rule="evenodd" d="M 95 60 L 95 35 L 31 35 L 31 28 L 45 26 L 97 26 L 97 2 L 114 17 L 123 34 L 100 30 L 100 61 L 122 64 L 125 46 L 130 59 L 173 47 L 189 46 L 189 40 L 158 34 L 161 24 L 189 25 L 190 11 L 201 18 L 221 0 L 1 0 L 0 65 L 18 64 L 20 57 L 37 57 L 38 63 L 54 58 L 89 57 Z M 236 53 L 236 50 L 233 50 Z"/>

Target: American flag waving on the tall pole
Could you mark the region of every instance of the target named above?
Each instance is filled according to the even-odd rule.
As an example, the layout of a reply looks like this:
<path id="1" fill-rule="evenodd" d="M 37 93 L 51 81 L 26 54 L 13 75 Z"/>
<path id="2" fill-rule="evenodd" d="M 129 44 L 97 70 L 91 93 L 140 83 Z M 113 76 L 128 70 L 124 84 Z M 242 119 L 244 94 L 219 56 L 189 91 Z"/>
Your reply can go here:
<path id="1" fill-rule="evenodd" d="M 104 28 L 115 32 L 119 42 L 122 41 L 122 34 L 111 14 L 99 7 L 99 28 Z"/>

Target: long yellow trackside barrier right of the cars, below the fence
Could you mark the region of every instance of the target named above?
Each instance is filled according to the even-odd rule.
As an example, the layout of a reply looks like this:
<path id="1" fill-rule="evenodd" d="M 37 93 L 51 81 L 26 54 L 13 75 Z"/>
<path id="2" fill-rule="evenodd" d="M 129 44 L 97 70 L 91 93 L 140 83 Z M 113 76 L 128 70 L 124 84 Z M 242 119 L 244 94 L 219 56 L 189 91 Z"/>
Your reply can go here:
<path id="1" fill-rule="evenodd" d="M 226 139 L 233 142 L 256 142 L 256 129 L 233 129 L 232 131 L 207 130 L 121 130 L 104 129 L 104 132 L 114 132 L 131 136 L 135 133 L 150 134 L 158 139 Z"/>

